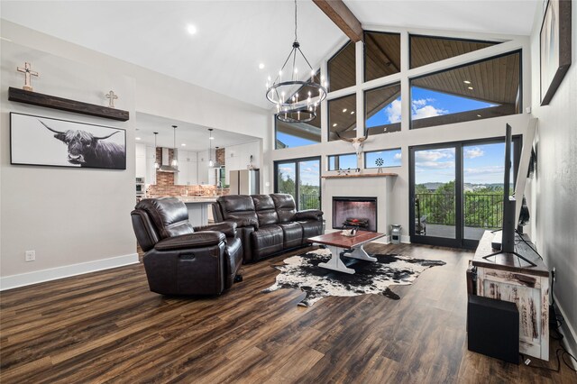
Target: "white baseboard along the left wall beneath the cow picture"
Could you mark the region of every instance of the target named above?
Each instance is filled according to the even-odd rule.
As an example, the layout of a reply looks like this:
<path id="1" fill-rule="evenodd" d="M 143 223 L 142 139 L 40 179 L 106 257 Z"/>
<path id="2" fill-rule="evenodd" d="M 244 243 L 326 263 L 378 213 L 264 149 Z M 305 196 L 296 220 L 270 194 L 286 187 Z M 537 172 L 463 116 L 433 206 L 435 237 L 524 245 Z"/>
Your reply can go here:
<path id="1" fill-rule="evenodd" d="M 97 270 L 109 270 L 111 268 L 136 264 L 138 262 L 138 253 L 131 253 L 110 259 L 87 261 L 81 262 L 79 264 L 50 268 L 49 270 L 35 270 L 33 272 L 22 273 L 20 275 L 5 276 L 0 278 L 0 291 L 38 284 L 44 281 L 69 278 L 70 276 L 96 272 Z"/>

